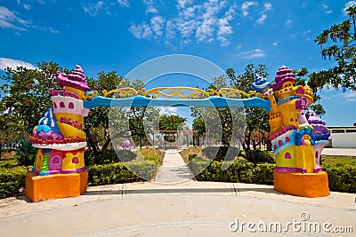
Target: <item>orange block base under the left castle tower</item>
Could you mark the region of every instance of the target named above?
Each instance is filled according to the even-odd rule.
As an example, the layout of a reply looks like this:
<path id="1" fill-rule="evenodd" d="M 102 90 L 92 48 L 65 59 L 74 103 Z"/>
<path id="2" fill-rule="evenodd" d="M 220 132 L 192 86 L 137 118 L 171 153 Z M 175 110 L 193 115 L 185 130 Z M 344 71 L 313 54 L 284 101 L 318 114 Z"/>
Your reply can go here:
<path id="1" fill-rule="evenodd" d="M 26 176 L 25 196 L 29 201 L 76 197 L 85 194 L 88 172 L 37 176 L 29 172 Z"/>

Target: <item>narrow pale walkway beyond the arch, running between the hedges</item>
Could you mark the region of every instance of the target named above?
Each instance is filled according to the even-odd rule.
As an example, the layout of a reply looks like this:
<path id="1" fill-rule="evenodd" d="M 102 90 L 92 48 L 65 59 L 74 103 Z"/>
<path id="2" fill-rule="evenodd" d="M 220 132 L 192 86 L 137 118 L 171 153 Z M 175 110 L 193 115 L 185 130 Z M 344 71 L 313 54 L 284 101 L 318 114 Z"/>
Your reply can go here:
<path id="1" fill-rule="evenodd" d="M 194 177 L 178 152 L 177 149 L 166 150 L 162 166 L 159 168 L 155 179 L 156 183 L 162 185 L 177 184 Z"/>

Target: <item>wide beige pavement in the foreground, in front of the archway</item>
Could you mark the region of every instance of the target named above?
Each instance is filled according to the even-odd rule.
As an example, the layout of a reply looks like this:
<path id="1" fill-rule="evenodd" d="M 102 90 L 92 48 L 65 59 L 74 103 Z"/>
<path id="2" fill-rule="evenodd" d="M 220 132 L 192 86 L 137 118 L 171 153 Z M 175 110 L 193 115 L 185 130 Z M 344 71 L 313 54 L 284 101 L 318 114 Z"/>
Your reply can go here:
<path id="1" fill-rule="evenodd" d="M 89 187 L 82 196 L 36 203 L 23 197 L 0 200 L 0 236 L 261 236 L 259 226 L 280 222 L 285 233 L 267 236 L 336 236 L 303 231 L 288 222 L 328 222 L 352 226 L 356 232 L 356 194 L 332 193 L 322 198 L 279 194 L 272 186 L 185 182 L 162 186 L 153 182 Z M 308 220 L 301 220 L 309 217 Z M 231 232 L 231 222 L 239 230 Z M 244 227 L 241 231 L 241 225 Z M 231 225 L 235 228 L 235 225 Z M 299 231 L 297 231 L 299 229 Z M 305 229 L 307 230 L 307 229 Z"/>

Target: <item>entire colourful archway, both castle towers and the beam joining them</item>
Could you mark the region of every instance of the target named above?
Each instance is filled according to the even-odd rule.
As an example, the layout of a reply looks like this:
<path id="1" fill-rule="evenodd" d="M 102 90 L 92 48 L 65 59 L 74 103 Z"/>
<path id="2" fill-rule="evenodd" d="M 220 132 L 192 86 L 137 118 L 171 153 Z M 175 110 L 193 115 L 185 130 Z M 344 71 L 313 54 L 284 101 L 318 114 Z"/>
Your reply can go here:
<path id="1" fill-rule="evenodd" d="M 32 172 L 26 178 L 30 201 L 77 196 L 86 190 L 84 117 L 93 107 L 261 107 L 269 112 L 271 143 L 276 158 L 274 189 L 285 194 L 319 197 L 329 194 L 328 175 L 321 171 L 320 154 L 328 143 L 325 122 L 312 112 L 310 87 L 295 86 L 295 75 L 280 67 L 276 83 L 256 75 L 255 91 L 223 88 L 209 92 L 190 87 L 158 87 L 145 91 L 122 88 L 91 91 L 77 66 L 69 75 L 59 74 L 61 91 L 53 91 L 49 108 L 34 128 L 30 140 L 37 149 Z M 183 91 L 189 91 L 183 93 Z M 109 98 L 118 93 L 124 99 Z M 242 95 L 245 99 L 239 99 Z M 173 99 L 181 97 L 181 99 Z M 164 98 L 164 99 L 161 99 Z"/>

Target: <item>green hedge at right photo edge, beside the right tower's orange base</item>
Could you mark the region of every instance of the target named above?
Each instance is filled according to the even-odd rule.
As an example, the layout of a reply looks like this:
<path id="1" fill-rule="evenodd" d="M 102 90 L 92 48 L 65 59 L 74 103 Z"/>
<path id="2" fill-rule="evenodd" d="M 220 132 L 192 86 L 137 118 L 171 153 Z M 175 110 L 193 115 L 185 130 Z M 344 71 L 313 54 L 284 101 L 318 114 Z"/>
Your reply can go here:
<path id="1" fill-rule="evenodd" d="M 331 191 L 356 194 L 356 166 L 351 164 L 325 165 Z"/>

